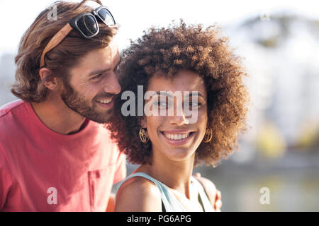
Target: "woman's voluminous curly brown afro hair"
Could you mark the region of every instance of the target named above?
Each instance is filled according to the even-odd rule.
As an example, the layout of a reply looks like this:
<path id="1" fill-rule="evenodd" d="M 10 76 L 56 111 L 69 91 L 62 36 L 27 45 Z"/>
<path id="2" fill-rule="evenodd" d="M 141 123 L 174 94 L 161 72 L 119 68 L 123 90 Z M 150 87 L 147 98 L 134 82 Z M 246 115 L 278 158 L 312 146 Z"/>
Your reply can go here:
<path id="1" fill-rule="evenodd" d="M 174 78 L 180 70 L 190 70 L 203 78 L 208 97 L 208 122 L 213 131 L 209 143 L 196 150 L 194 165 L 216 165 L 237 147 L 237 138 L 246 129 L 249 95 L 243 83 L 247 76 L 240 57 L 228 47 L 226 37 L 218 37 L 215 26 L 186 25 L 183 20 L 169 28 L 150 28 L 123 51 L 120 65 L 122 93 L 138 95 L 138 85 L 147 84 L 155 73 Z M 136 98 L 137 99 L 137 98 Z M 111 138 L 134 164 L 152 164 L 152 143 L 140 141 L 138 116 L 121 114 L 121 94 L 115 99 L 113 118 L 107 125 Z M 136 106 L 137 100 L 136 100 Z M 136 109 L 136 114 L 137 109 Z"/>

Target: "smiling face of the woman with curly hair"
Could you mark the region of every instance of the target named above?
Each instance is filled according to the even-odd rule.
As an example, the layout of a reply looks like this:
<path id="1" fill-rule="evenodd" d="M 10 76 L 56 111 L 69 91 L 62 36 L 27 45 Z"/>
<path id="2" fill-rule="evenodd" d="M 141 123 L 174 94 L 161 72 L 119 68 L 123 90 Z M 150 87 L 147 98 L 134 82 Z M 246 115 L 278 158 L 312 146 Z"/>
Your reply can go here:
<path id="1" fill-rule="evenodd" d="M 145 107 L 157 111 L 158 116 L 145 116 L 141 123 L 147 128 L 153 156 L 162 155 L 174 161 L 193 156 L 203 140 L 208 119 L 203 78 L 186 70 L 179 71 L 173 79 L 155 74 L 147 91 L 157 93 L 145 100 Z M 184 110 L 185 107 L 191 111 Z"/>

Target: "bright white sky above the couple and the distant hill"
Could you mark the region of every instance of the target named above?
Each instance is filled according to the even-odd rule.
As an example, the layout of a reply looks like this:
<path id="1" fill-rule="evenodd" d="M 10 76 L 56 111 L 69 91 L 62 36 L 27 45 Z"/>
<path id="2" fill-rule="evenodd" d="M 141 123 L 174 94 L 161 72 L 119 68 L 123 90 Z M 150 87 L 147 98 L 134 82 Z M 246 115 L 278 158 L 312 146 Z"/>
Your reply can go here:
<path id="1" fill-rule="evenodd" d="M 50 6 L 55 0 L 0 0 L 1 42 L 3 52 L 16 51 L 23 32 L 33 23 L 38 13 Z M 101 0 L 110 8 L 117 23 L 121 26 L 118 33 L 120 49 L 135 40 L 150 25 L 167 26 L 172 20 L 184 18 L 189 23 L 227 25 L 237 23 L 243 18 L 259 16 L 260 13 L 278 9 L 290 9 L 319 19 L 318 1 L 283 0 Z M 79 2 L 79 1 L 77 1 Z M 91 6 L 98 6 L 92 3 Z"/>

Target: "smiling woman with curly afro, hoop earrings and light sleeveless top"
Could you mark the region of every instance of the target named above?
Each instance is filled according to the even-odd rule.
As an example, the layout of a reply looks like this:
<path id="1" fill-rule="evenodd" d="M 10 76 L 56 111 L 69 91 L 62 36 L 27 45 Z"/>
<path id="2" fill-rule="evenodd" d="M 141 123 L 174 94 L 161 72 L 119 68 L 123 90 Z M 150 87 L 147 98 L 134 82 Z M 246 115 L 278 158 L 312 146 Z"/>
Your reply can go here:
<path id="1" fill-rule="evenodd" d="M 233 153 L 248 103 L 246 74 L 226 41 L 213 27 L 181 21 L 151 28 L 125 50 L 123 95 L 108 129 L 140 167 L 118 189 L 116 211 L 214 210 L 207 196 L 213 183 L 202 186 L 193 167 Z"/>

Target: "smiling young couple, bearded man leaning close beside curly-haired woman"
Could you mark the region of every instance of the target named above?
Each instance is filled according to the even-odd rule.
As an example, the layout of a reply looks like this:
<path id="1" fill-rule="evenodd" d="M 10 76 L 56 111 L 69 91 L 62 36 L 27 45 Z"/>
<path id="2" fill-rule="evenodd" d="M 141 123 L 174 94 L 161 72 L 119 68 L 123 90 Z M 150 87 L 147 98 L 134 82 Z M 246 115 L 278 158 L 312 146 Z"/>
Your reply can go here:
<path id="1" fill-rule="evenodd" d="M 0 109 L 0 210 L 220 210 L 220 192 L 192 172 L 230 155 L 245 129 L 240 60 L 215 29 L 181 22 L 151 28 L 121 61 L 111 12 L 85 2 L 58 1 L 57 20 L 46 9 L 23 35 L 21 100 Z M 140 86 L 142 108 L 173 114 L 125 116 L 123 93 Z M 125 157 L 140 164 L 127 179 Z"/>

